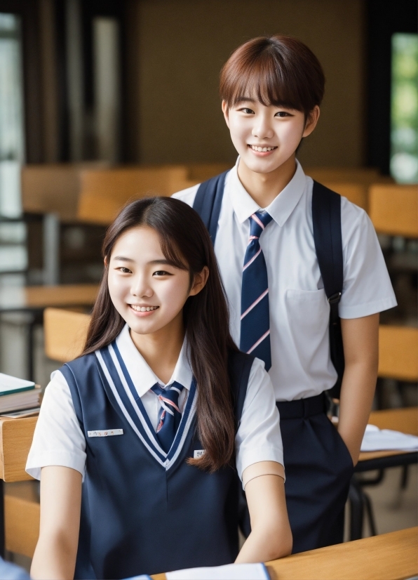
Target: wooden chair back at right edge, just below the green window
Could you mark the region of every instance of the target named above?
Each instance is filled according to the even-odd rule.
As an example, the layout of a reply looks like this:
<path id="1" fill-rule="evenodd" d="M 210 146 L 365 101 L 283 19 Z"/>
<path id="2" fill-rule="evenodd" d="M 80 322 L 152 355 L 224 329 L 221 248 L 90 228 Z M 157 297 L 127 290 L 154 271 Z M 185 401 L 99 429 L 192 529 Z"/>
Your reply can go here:
<path id="1" fill-rule="evenodd" d="M 379 233 L 418 237 L 417 185 L 372 185 L 369 190 L 369 215 Z"/>

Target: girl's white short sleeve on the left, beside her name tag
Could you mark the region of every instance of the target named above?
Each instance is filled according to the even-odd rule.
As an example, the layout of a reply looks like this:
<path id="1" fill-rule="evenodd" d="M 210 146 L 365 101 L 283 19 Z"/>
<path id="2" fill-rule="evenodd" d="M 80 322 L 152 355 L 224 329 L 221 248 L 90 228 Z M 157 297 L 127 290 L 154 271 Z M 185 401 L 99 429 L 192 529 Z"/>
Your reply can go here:
<path id="1" fill-rule="evenodd" d="M 67 381 L 60 371 L 55 371 L 43 395 L 26 471 L 40 480 L 43 467 L 69 467 L 84 475 L 85 465 L 86 439 Z"/>

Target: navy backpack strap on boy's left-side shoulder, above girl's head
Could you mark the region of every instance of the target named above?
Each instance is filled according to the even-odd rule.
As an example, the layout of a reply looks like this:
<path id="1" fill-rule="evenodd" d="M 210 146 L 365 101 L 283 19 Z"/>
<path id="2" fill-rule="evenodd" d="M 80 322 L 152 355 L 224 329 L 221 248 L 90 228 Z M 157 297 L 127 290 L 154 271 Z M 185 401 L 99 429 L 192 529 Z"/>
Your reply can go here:
<path id="1" fill-rule="evenodd" d="M 228 169 L 228 171 L 230 170 Z M 208 228 L 214 246 L 228 171 L 201 183 L 194 198 L 193 209 L 201 216 L 203 223 Z"/>

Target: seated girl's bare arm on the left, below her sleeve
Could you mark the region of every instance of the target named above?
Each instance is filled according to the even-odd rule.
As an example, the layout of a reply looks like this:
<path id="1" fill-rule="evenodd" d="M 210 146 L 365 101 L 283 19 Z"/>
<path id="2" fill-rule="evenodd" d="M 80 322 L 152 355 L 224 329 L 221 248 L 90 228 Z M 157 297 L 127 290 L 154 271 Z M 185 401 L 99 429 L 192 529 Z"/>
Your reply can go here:
<path id="1" fill-rule="evenodd" d="M 79 544 L 81 473 L 61 466 L 41 470 L 41 525 L 32 579 L 74 578 Z"/>

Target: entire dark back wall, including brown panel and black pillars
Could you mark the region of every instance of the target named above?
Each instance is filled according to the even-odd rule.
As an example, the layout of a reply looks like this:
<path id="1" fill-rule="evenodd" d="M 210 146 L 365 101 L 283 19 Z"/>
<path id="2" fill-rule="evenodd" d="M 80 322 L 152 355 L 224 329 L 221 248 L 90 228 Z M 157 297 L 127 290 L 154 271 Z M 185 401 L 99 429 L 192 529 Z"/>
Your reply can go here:
<path id="1" fill-rule="evenodd" d="M 411 0 L 0 0 L 0 12 L 20 18 L 27 162 L 234 162 L 220 69 L 279 32 L 327 79 L 302 162 L 389 173 L 391 36 L 416 32 Z"/>

